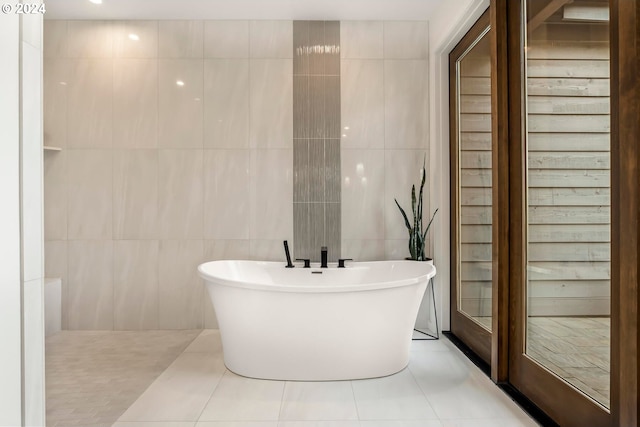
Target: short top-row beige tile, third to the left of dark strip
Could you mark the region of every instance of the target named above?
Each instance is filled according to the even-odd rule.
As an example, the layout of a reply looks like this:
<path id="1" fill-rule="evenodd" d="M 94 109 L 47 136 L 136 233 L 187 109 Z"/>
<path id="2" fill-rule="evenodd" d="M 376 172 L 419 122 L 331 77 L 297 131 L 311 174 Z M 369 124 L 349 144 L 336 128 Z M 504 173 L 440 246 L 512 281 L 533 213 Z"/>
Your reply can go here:
<path id="1" fill-rule="evenodd" d="M 203 21 L 159 21 L 158 57 L 202 58 Z"/>

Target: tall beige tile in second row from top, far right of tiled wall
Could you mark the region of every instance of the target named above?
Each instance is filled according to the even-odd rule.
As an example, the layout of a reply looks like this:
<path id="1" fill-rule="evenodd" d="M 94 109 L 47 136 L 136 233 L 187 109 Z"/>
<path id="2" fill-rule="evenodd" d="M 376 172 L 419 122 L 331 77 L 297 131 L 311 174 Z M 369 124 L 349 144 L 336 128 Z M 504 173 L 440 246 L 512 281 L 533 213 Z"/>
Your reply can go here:
<path id="1" fill-rule="evenodd" d="M 424 148 L 429 134 L 424 60 L 384 61 L 385 148 Z"/>

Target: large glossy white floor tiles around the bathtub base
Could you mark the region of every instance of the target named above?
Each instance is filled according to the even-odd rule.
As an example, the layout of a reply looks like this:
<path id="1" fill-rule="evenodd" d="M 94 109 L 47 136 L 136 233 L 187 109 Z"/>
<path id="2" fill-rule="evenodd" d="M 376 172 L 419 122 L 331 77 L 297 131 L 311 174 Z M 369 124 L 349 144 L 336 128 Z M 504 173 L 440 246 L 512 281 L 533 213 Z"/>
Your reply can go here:
<path id="1" fill-rule="evenodd" d="M 531 427 L 446 338 L 414 341 L 407 369 L 354 381 L 266 381 L 224 366 L 205 330 L 114 427 Z"/>

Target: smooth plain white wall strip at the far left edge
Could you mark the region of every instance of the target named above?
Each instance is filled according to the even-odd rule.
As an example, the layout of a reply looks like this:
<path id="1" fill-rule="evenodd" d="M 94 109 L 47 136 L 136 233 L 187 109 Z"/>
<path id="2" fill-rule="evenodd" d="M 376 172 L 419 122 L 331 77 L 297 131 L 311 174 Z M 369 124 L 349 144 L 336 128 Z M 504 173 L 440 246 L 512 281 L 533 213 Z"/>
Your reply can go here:
<path id="1" fill-rule="evenodd" d="M 0 15 L 0 425 L 22 422 L 20 21 Z"/>

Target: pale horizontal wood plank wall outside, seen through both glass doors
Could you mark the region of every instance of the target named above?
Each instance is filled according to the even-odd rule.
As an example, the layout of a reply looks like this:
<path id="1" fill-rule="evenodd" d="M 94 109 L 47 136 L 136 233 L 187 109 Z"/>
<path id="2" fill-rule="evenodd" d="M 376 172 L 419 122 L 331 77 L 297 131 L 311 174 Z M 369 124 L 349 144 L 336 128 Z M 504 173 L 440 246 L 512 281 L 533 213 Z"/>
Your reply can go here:
<path id="1" fill-rule="evenodd" d="M 597 41 L 593 41 L 597 40 Z M 605 26 L 544 24 L 528 42 L 529 314 L 610 311 L 609 43 Z M 491 314 L 488 58 L 460 81 L 461 303 Z"/>

